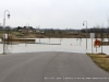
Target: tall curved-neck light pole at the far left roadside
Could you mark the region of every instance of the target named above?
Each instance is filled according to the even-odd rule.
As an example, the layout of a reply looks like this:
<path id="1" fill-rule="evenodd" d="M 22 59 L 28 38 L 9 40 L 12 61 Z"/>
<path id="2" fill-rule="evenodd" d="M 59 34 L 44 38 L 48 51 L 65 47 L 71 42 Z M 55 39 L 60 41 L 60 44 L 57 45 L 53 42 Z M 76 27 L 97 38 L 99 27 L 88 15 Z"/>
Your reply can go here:
<path id="1" fill-rule="evenodd" d="M 10 19 L 10 12 L 8 10 L 4 11 L 4 17 L 3 17 L 3 55 L 7 52 L 5 51 L 5 12 L 8 12 L 8 19 Z"/>

